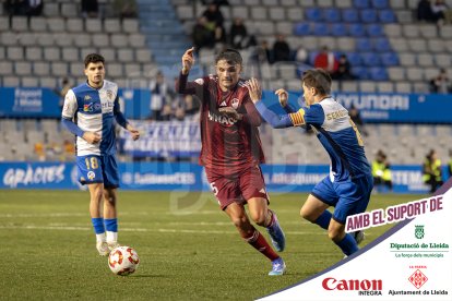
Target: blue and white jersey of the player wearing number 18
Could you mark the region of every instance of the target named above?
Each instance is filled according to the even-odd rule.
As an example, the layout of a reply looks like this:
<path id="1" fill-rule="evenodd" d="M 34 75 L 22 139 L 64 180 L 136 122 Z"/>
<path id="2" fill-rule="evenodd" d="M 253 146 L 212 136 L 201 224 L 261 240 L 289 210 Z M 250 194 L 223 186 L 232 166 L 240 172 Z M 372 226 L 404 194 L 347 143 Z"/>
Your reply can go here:
<path id="1" fill-rule="evenodd" d="M 121 118 L 118 118 L 118 115 Z M 95 132 L 100 135 L 100 142 L 96 144 L 90 144 L 78 136 L 78 156 L 115 154 L 114 119 L 124 120 L 118 103 L 118 85 L 104 81 L 99 89 L 91 87 L 87 83 L 70 89 L 66 95 L 62 118 L 74 120 L 83 132 Z"/>

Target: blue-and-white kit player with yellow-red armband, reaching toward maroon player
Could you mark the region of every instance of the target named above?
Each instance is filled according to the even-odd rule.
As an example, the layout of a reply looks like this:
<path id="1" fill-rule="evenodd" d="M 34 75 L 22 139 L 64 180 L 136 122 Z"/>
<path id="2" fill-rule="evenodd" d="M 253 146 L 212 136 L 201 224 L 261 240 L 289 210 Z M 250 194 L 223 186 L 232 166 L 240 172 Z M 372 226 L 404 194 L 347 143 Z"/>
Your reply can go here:
<path id="1" fill-rule="evenodd" d="M 284 89 L 276 91 L 287 113 L 278 116 L 261 100 L 261 86 L 255 79 L 247 86 L 258 111 L 273 128 L 311 127 L 331 158 L 330 174 L 318 183 L 301 207 L 300 215 L 328 230 L 328 236 L 348 256 L 358 251 L 361 231 L 345 232 L 347 216 L 366 210 L 373 188 L 370 165 L 362 139 L 348 111 L 330 96 L 331 77 L 322 69 L 304 73 L 304 97 L 307 107 L 296 111 Z M 328 207 L 334 206 L 331 214 Z"/>

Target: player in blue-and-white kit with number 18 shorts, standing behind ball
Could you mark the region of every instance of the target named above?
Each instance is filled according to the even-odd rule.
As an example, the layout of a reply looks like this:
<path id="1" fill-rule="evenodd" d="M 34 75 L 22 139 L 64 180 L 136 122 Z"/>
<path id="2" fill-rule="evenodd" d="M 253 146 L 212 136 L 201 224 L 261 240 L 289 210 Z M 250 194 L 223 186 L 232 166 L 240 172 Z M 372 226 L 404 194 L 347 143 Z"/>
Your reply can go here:
<path id="1" fill-rule="evenodd" d="M 119 246 L 115 124 L 117 122 L 128 130 L 133 140 L 140 137 L 140 132 L 120 111 L 118 85 L 105 80 L 104 58 L 91 53 L 84 63 L 87 81 L 66 95 L 61 121 L 76 136 L 79 181 L 87 184 L 90 190 L 90 214 L 96 233 L 96 248 L 99 255 L 106 256 Z"/>

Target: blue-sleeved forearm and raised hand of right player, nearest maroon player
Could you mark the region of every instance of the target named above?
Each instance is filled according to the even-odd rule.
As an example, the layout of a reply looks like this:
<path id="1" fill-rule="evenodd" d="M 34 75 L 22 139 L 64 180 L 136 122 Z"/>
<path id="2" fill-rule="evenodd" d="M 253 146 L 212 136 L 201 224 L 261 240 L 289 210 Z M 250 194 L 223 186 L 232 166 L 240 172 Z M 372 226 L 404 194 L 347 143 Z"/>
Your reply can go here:
<path id="1" fill-rule="evenodd" d="M 265 105 L 261 101 L 262 98 L 262 88 L 258 80 L 251 79 L 246 83 L 246 86 L 250 93 L 252 103 L 254 103 L 255 108 L 262 118 L 269 122 L 274 129 L 289 128 L 294 127 L 288 115 L 278 116 L 272 110 L 269 110 Z"/>

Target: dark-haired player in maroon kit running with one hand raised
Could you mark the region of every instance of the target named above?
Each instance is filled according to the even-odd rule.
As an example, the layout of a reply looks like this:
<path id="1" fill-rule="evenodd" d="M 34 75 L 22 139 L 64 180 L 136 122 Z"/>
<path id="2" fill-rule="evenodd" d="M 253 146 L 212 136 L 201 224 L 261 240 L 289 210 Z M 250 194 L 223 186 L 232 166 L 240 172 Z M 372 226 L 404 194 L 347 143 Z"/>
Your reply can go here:
<path id="1" fill-rule="evenodd" d="M 201 100 L 200 164 L 221 208 L 229 216 L 240 236 L 270 261 L 269 275 L 283 275 L 286 265 L 254 228 L 245 209 L 248 204 L 251 219 L 265 227 L 274 248 L 285 248 L 284 232 L 276 215 L 269 209 L 269 196 L 260 164 L 264 155 L 257 127 L 261 117 L 240 80 L 242 59 L 238 51 L 226 49 L 215 59 L 216 75 L 188 82 L 194 63 L 193 48 L 182 56 L 182 70 L 176 91 L 197 95 Z"/>

